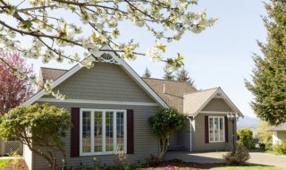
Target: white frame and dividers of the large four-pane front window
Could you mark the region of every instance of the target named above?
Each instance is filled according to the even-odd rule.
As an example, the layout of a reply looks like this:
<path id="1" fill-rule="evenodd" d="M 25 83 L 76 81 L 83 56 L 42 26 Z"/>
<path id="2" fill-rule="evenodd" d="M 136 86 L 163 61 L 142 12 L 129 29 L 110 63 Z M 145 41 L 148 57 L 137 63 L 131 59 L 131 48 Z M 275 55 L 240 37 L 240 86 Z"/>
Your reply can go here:
<path id="1" fill-rule="evenodd" d="M 90 153 L 82 153 L 82 112 L 91 112 L 91 128 L 90 128 Z M 94 113 L 95 112 L 102 112 L 102 117 L 103 117 L 103 122 L 102 122 L 102 129 L 103 129 L 103 134 L 105 134 L 105 113 L 106 112 L 114 112 L 114 134 L 117 131 L 117 126 L 116 126 L 116 113 L 117 112 L 122 112 L 124 115 L 124 124 L 123 124 L 123 131 L 124 131 L 124 151 L 127 151 L 127 112 L 126 110 L 121 110 L 121 109 L 90 109 L 90 108 L 80 108 L 80 156 L 93 156 L 93 155 L 108 155 L 108 154 L 114 154 L 116 151 L 116 135 L 114 135 L 114 151 L 108 151 L 105 152 L 105 135 L 103 135 L 102 138 L 102 147 L 103 151 L 102 152 L 95 152 L 94 151 Z"/>

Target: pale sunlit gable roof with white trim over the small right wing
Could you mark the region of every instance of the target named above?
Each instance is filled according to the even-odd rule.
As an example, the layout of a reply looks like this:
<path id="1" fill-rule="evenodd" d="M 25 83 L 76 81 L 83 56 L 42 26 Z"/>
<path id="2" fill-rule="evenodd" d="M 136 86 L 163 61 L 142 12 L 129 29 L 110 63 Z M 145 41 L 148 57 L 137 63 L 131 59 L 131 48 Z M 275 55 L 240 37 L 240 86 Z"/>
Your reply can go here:
<path id="1" fill-rule="evenodd" d="M 233 111 L 243 117 L 240 110 L 232 103 L 221 88 L 199 90 L 184 96 L 184 113 L 196 117 L 213 98 L 223 98 Z"/>

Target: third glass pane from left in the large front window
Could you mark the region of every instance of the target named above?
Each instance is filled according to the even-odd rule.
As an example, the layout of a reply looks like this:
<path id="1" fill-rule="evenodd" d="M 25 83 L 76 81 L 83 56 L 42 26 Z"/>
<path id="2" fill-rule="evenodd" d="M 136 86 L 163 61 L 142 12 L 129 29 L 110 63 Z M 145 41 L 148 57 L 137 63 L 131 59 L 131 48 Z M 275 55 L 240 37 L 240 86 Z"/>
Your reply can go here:
<path id="1" fill-rule="evenodd" d="M 114 151 L 114 113 L 105 113 L 105 151 Z"/>

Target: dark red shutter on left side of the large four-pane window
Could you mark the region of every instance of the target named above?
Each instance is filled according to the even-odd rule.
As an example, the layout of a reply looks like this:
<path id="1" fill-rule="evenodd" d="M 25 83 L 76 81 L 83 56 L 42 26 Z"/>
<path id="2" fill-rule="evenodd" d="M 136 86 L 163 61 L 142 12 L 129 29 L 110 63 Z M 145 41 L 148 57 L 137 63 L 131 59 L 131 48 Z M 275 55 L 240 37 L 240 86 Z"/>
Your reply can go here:
<path id="1" fill-rule="evenodd" d="M 71 157 L 80 157 L 80 108 L 71 107 Z"/>

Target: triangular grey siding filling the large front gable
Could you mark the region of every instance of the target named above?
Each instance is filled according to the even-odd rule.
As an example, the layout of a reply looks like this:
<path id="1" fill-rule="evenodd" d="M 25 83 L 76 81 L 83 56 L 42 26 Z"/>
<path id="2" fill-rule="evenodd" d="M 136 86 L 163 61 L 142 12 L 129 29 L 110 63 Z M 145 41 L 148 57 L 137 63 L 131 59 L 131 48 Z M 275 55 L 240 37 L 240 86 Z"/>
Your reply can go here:
<path id="1" fill-rule="evenodd" d="M 69 99 L 155 102 L 116 64 L 97 63 L 91 69 L 82 68 L 55 89 Z"/>

